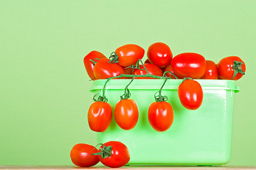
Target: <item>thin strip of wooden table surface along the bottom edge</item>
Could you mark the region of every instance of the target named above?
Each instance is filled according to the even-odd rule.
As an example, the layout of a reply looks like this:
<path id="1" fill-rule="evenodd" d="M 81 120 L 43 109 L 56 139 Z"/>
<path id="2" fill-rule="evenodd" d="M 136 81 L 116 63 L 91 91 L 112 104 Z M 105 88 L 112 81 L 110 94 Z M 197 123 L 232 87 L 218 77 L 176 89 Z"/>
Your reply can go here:
<path id="1" fill-rule="evenodd" d="M 92 166 L 89 168 L 80 168 L 77 166 L 0 166 L 0 169 L 46 169 L 46 170 L 78 170 L 78 169 L 97 169 L 97 170 L 103 170 L 103 169 L 110 169 L 107 166 Z M 172 169 L 172 170 L 256 170 L 256 166 L 123 166 L 121 168 L 117 168 L 114 170 L 120 170 L 120 169 Z"/>

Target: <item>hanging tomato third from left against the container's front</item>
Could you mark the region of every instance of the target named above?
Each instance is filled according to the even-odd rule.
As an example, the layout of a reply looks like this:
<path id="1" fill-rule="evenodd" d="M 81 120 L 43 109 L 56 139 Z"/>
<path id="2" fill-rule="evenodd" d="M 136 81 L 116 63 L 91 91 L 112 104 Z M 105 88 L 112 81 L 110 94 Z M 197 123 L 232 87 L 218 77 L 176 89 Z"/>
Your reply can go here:
<path id="1" fill-rule="evenodd" d="M 174 110 L 171 104 L 166 101 L 151 103 L 148 111 L 148 119 L 154 130 L 164 132 L 174 122 Z"/>

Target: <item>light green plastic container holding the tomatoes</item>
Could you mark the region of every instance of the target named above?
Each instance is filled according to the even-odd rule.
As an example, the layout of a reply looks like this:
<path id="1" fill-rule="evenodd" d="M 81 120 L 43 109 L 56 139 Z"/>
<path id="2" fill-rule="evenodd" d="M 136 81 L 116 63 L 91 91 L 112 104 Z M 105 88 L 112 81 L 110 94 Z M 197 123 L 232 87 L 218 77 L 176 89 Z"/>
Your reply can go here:
<path id="1" fill-rule="evenodd" d="M 91 91 L 101 94 L 105 81 L 93 81 Z M 112 79 L 108 82 L 105 94 L 113 111 L 129 81 Z M 154 94 L 164 79 L 134 79 L 129 90 L 139 107 L 137 125 L 132 130 L 122 130 L 113 115 L 110 127 L 105 132 L 97 132 L 97 142 L 123 142 L 130 152 L 129 165 L 227 164 L 230 160 L 234 94 L 239 91 L 235 81 L 196 80 L 203 88 L 203 103 L 196 111 L 181 105 L 177 93 L 181 81 L 166 81 L 162 91 L 174 108 L 174 123 L 169 130 L 156 132 L 147 118 L 149 105 L 154 102 Z"/>

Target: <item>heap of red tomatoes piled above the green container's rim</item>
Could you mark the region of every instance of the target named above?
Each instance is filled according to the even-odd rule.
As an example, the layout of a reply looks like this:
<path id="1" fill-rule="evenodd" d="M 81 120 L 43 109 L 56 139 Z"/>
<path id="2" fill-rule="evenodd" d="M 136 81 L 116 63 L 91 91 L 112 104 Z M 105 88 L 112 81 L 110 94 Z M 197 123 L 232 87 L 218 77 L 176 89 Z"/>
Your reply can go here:
<path id="1" fill-rule="evenodd" d="M 93 80 L 117 77 L 121 74 L 124 77 L 127 74 L 153 74 L 161 77 L 166 71 L 168 71 L 166 76 L 173 79 L 174 74 L 178 79 L 190 77 L 238 80 L 245 74 L 245 62 L 237 56 L 224 57 L 218 64 L 206 60 L 196 52 L 183 52 L 173 57 L 168 45 L 156 42 L 149 46 L 144 65 L 138 65 L 138 60 L 142 60 L 144 53 L 145 50 L 139 45 L 128 44 L 118 47 L 109 59 L 101 52 L 94 50 L 84 57 L 83 62 L 87 74 Z M 150 77 L 146 78 L 150 79 Z"/>

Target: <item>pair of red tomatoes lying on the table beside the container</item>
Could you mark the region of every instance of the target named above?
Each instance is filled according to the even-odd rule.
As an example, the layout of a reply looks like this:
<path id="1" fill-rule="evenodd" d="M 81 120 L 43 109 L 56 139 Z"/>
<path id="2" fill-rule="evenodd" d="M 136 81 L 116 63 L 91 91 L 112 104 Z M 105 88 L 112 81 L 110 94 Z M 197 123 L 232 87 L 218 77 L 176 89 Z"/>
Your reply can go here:
<path id="1" fill-rule="evenodd" d="M 73 146 L 70 151 L 71 161 L 80 167 L 95 166 L 101 162 L 111 168 L 119 168 L 129 162 L 129 150 L 122 142 L 110 141 L 101 145 L 100 149 L 84 143 Z"/>

